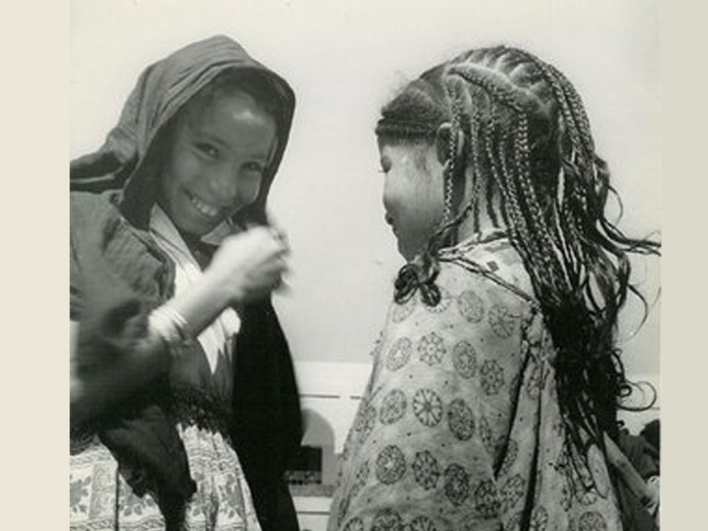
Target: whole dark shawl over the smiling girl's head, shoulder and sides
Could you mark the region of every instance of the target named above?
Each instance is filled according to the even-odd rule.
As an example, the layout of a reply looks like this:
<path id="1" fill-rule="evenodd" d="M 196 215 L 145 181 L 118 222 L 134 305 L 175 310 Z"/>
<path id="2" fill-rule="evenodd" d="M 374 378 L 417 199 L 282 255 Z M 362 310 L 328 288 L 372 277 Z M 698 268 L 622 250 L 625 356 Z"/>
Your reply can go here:
<path id="1" fill-rule="evenodd" d="M 144 341 L 147 314 L 171 296 L 173 274 L 147 233 L 157 184 L 151 148 L 177 111 L 227 69 L 263 76 L 282 101 L 275 156 L 256 202 L 238 215 L 265 222 L 265 200 L 295 107 L 290 86 L 223 36 L 190 44 L 147 67 L 101 149 L 71 163 L 71 190 L 91 192 L 72 194 L 72 319 L 81 319 L 79 367 L 120 362 L 130 349 L 161 348 Z M 93 194 L 98 192 L 106 199 Z M 126 253 L 135 256 L 127 259 Z M 301 417 L 290 351 L 269 300 L 246 305 L 237 341 L 232 440 L 263 529 L 297 529 L 282 476 L 302 436 Z M 154 491 L 172 526 L 195 485 L 166 413 L 165 387 L 156 382 L 96 426 L 119 464 L 137 471 L 127 477 L 133 488 Z"/>

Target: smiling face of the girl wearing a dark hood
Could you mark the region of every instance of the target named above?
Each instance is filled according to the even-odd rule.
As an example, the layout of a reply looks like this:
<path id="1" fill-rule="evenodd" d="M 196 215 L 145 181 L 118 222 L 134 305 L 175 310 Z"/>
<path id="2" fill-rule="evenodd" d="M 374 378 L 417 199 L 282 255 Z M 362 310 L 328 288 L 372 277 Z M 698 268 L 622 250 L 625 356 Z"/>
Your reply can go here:
<path id="1" fill-rule="evenodd" d="M 221 92 L 188 103 L 170 141 L 157 202 L 178 229 L 202 236 L 258 197 L 275 118 L 247 93 Z"/>

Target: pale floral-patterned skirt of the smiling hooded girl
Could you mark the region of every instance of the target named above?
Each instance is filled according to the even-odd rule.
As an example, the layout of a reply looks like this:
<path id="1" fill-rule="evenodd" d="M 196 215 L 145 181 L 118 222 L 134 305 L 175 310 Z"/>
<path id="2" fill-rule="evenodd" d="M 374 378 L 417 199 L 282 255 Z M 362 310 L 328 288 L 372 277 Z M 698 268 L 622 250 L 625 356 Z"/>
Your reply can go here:
<path id="1" fill-rule="evenodd" d="M 178 426 L 197 492 L 188 502 L 185 531 L 260 531 L 236 452 L 217 431 Z M 97 437 L 74 442 L 70 457 L 69 528 L 72 531 L 163 531 L 150 494 L 138 497 L 118 462 Z"/>

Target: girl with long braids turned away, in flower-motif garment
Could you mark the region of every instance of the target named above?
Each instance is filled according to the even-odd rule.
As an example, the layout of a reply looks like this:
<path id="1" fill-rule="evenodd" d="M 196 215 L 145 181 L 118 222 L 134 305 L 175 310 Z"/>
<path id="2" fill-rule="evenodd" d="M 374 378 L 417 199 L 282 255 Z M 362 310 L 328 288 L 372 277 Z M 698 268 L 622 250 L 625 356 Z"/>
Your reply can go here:
<path id="1" fill-rule="evenodd" d="M 619 530 L 607 445 L 629 253 L 573 86 L 499 46 L 406 86 L 377 128 L 406 265 L 341 456 L 333 530 Z M 405 527 L 404 527 L 405 526 Z"/>

